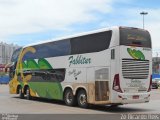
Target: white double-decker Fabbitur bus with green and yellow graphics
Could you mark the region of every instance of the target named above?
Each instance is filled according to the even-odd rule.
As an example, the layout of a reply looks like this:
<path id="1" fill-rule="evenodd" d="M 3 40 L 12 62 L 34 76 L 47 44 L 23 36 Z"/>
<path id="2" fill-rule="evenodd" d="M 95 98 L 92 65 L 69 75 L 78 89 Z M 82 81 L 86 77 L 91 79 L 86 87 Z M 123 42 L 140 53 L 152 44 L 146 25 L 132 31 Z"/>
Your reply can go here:
<path id="1" fill-rule="evenodd" d="M 10 93 L 82 108 L 149 102 L 151 50 L 149 32 L 132 27 L 28 45 L 13 53 Z"/>

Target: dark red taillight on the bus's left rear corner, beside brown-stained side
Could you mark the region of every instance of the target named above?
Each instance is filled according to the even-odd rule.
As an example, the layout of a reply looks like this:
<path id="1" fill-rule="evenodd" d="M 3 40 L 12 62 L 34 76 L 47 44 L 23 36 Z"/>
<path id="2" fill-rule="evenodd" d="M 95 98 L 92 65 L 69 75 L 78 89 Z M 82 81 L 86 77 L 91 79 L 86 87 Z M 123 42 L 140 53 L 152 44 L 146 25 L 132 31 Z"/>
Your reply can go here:
<path id="1" fill-rule="evenodd" d="M 121 90 L 121 87 L 120 87 L 120 79 L 119 79 L 119 74 L 116 74 L 114 76 L 114 81 L 113 81 L 113 90 L 117 91 L 117 92 L 121 92 L 122 93 L 122 90 Z"/>

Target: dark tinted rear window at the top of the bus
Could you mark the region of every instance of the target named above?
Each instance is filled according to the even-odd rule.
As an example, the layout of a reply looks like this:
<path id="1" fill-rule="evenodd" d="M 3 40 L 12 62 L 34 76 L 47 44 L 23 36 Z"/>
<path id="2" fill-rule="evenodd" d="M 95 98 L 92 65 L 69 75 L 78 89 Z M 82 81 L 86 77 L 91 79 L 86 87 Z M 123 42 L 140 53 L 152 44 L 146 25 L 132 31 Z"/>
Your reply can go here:
<path id="1" fill-rule="evenodd" d="M 151 48 L 151 38 L 141 29 L 120 28 L 120 45 Z"/>

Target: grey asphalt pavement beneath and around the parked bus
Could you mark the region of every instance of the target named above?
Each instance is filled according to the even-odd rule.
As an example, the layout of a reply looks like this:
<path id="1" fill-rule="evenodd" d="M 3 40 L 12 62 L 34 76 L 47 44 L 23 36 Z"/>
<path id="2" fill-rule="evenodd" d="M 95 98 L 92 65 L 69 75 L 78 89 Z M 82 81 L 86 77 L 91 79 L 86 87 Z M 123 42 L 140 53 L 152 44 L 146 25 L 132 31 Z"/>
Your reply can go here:
<path id="1" fill-rule="evenodd" d="M 33 100 L 20 99 L 18 95 L 9 94 L 8 85 L 0 85 L 0 113 L 5 114 L 39 114 L 39 115 L 108 115 L 119 119 L 132 114 L 160 113 L 160 89 L 153 89 L 149 103 L 126 104 L 118 107 L 90 106 L 88 109 L 68 107 L 63 101 L 34 98 Z M 105 116 L 104 116 L 105 117 Z M 42 117 L 40 117 L 42 118 Z M 95 117 L 94 117 L 95 118 Z M 132 118 L 132 117 L 131 117 Z"/>

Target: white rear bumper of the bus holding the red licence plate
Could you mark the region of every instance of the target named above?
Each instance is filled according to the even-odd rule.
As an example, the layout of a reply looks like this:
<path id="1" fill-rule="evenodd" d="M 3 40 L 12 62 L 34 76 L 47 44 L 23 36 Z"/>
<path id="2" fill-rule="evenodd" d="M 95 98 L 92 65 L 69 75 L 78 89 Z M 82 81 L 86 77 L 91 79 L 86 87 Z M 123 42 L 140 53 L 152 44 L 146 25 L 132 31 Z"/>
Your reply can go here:
<path id="1" fill-rule="evenodd" d="M 147 93 L 119 93 L 118 99 L 112 103 L 132 104 L 145 103 L 150 100 L 150 92 Z"/>

